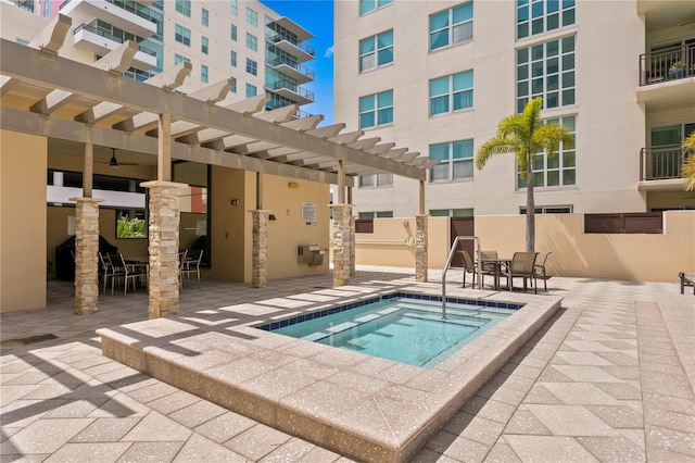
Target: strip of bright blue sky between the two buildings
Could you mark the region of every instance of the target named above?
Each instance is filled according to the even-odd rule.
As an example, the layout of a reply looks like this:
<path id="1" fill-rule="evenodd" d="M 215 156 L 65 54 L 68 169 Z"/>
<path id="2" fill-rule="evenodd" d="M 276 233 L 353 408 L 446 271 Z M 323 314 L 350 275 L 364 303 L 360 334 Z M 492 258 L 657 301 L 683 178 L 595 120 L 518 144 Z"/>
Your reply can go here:
<path id="1" fill-rule="evenodd" d="M 302 87 L 314 92 L 314 103 L 302 107 L 311 114 L 323 114 L 328 125 L 333 120 L 333 2 L 332 0 L 261 0 L 277 13 L 289 17 L 314 35 L 307 43 L 316 58 L 306 66 L 316 73 L 315 80 Z"/>

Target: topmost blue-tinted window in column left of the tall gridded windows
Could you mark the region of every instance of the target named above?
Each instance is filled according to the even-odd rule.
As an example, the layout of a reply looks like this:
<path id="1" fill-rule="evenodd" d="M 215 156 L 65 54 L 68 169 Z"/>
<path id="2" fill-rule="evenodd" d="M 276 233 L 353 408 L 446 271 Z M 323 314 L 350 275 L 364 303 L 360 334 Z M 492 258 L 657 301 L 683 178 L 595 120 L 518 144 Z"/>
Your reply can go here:
<path id="1" fill-rule="evenodd" d="M 468 2 L 430 15 L 430 50 L 473 38 L 473 3 Z"/>

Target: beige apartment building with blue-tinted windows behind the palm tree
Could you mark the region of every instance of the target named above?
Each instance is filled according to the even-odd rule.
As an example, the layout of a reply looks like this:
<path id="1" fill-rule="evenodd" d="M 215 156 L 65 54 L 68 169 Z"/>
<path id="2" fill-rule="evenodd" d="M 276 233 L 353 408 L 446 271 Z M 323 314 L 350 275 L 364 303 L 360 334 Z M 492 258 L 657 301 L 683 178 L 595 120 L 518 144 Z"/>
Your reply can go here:
<path id="1" fill-rule="evenodd" d="M 518 214 L 513 154 L 478 171 L 506 115 L 543 97 L 574 147 L 533 163 L 545 213 L 695 209 L 680 179 L 695 129 L 695 4 L 686 1 L 336 2 L 334 118 L 427 153 L 431 215 Z M 366 137 L 365 136 L 365 137 Z M 413 180 L 361 178 L 361 217 L 417 213 Z"/>

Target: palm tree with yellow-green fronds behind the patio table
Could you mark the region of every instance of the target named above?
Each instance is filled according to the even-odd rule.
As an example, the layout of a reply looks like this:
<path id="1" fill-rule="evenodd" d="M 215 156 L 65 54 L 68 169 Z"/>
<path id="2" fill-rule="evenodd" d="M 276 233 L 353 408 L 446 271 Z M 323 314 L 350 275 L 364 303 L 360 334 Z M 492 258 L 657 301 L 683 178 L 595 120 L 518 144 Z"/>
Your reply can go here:
<path id="1" fill-rule="evenodd" d="M 526 250 L 534 251 L 535 202 L 533 200 L 533 155 L 541 150 L 552 158 L 557 154 L 560 142 L 565 148 L 574 143 L 574 136 L 561 124 L 544 124 L 541 121 L 543 99 L 529 101 L 521 114 L 504 117 L 497 124 L 497 133 L 478 150 L 476 167 L 482 168 L 493 154 L 513 152 L 521 178 L 526 178 Z"/>

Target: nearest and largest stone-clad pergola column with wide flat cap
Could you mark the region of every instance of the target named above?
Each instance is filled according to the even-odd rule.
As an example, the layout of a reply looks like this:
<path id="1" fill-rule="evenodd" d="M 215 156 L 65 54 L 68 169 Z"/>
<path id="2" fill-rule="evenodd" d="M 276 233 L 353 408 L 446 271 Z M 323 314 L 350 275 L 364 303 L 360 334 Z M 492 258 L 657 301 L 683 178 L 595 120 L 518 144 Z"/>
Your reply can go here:
<path id="1" fill-rule="evenodd" d="M 178 190 L 186 184 L 144 182 L 150 189 L 150 318 L 178 314 Z"/>

